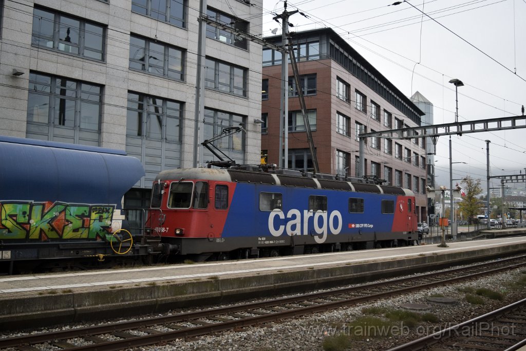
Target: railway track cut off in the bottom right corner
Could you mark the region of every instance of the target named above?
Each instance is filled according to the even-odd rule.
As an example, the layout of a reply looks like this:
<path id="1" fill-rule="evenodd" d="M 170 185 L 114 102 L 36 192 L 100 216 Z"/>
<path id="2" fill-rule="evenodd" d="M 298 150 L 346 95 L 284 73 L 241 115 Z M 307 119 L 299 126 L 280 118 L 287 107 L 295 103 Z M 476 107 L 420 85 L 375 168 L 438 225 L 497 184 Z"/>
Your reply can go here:
<path id="1" fill-rule="evenodd" d="M 526 346 L 526 299 L 388 351 L 513 351 Z"/>

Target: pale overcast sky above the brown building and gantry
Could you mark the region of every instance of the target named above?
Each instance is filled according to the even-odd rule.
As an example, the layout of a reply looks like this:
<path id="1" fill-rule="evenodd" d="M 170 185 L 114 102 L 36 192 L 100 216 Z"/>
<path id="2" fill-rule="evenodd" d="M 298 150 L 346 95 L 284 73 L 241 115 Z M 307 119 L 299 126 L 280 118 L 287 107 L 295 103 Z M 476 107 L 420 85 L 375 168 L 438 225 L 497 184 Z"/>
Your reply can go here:
<path id="1" fill-rule="evenodd" d="M 332 28 L 406 96 L 419 91 L 433 104 L 434 124 L 519 116 L 526 105 L 526 0 L 295 0 L 287 10 L 294 31 Z M 281 26 L 272 17 L 284 2 L 263 0 L 263 36 Z M 426 15 L 422 14 L 425 13 Z M 452 178 L 524 173 L 526 128 L 452 136 Z M 436 182 L 449 186 L 449 137 L 437 143 Z M 453 186 L 457 181 L 453 181 Z M 511 185 L 524 188 L 524 183 Z M 494 179 L 490 187 L 499 187 Z"/>

